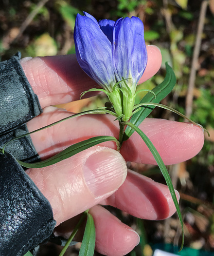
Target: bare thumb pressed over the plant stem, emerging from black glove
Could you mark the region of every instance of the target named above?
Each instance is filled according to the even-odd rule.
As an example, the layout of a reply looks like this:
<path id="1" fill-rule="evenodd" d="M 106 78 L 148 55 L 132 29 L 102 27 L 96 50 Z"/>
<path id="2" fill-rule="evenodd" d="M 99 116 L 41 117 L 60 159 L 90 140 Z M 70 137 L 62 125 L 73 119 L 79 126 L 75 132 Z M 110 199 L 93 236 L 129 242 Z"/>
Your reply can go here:
<path id="1" fill-rule="evenodd" d="M 125 181 L 127 168 L 119 152 L 95 146 L 26 173 L 51 203 L 59 225 L 112 195 Z"/>

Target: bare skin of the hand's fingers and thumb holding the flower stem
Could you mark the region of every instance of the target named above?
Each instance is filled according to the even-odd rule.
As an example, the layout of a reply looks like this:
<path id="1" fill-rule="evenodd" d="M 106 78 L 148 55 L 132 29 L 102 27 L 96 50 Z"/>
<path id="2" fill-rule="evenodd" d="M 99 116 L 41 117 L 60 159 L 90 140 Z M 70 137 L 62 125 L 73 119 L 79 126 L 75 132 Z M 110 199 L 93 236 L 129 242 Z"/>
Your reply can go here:
<path id="1" fill-rule="evenodd" d="M 161 63 L 157 47 L 149 46 L 147 51 L 148 64 L 141 82 L 155 75 Z M 21 64 L 44 108 L 41 115 L 28 122 L 29 131 L 71 116 L 65 110 L 49 106 L 77 100 L 83 91 L 95 87 L 95 82 L 82 71 L 75 56 L 25 58 Z M 86 138 L 99 135 L 118 137 L 118 123 L 113 119 L 110 115 L 69 119 L 32 134 L 31 138 L 44 159 Z M 151 139 L 166 165 L 192 158 L 204 141 L 202 129 L 192 124 L 147 118 L 140 128 Z M 113 142 L 107 142 L 53 166 L 27 170 L 50 201 L 57 225 L 92 207 L 96 250 L 111 256 L 127 254 L 139 242 L 139 236 L 96 204 L 109 204 L 146 219 L 163 219 L 175 212 L 167 186 L 131 171 L 125 179 L 125 161 L 155 164 L 139 136 L 134 133 L 125 141 L 121 154 L 115 148 Z M 69 231 L 69 227 L 67 230 L 65 226 L 58 227 L 58 233 Z"/>

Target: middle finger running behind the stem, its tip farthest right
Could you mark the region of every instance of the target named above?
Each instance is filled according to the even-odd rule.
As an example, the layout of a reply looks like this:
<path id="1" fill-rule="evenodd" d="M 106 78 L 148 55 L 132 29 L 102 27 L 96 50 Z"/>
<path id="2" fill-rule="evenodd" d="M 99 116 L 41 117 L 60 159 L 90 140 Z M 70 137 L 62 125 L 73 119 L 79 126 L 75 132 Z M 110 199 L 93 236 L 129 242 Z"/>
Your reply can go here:
<path id="1" fill-rule="evenodd" d="M 32 131 L 70 115 L 65 110 L 49 107 L 28 123 L 28 129 Z M 139 127 L 151 139 L 166 165 L 194 157 L 203 146 L 203 131 L 196 125 L 146 118 Z M 32 134 L 31 138 L 38 154 L 47 158 L 71 144 L 102 135 L 118 138 L 119 126 L 114 117 L 87 115 L 71 118 Z M 116 149 L 114 142 L 107 142 L 105 146 Z M 150 150 L 136 132 L 123 143 L 120 153 L 126 161 L 156 164 Z"/>

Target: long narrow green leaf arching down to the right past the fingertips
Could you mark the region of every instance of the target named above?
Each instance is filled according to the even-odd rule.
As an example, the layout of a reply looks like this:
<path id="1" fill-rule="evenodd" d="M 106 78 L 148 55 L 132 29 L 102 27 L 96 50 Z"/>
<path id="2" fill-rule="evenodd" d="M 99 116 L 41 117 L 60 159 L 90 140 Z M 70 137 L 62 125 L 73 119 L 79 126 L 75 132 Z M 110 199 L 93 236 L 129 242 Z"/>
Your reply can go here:
<path id="1" fill-rule="evenodd" d="M 135 130 L 141 136 L 141 138 L 143 138 L 143 141 L 145 142 L 145 144 L 147 145 L 147 147 L 151 151 L 152 155 L 154 156 L 154 158 L 155 158 L 155 160 L 156 160 L 156 162 L 157 162 L 157 164 L 160 168 L 160 171 L 161 171 L 161 173 L 162 173 L 162 175 L 163 175 L 163 177 L 166 181 L 166 184 L 167 184 L 167 186 L 169 188 L 169 191 L 171 193 L 173 202 L 176 206 L 176 210 L 177 210 L 177 213 L 178 213 L 178 218 L 180 220 L 180 225 L 181 225 L 181 229 L 182 229 L 182 244 L 181 244 L 181 247 L 180 247 L 180 250 L 179 250 L 179 251 L 181 251 L 182 248 L 183 248 L 183 243 L 184 243 L 183 220 L 182 220 L 182 215 L 181 215 L 180 208 L 179 208 L 179 205 L 178 205 L 178 200 L 177 200 L 177 197 L 176 197 L 176 193 L 175 193 L 171 178 L 170 178 L 170 176 L 168 174 L 168 171 L 166 169 L 166 166 L 163 163 L 163 160 L 160 157 L 157 149 L 152 144 L 151 140 L 141 131 L 141 129 L 139 129 L 136 125 L 134 125 L 131 122 L 126 122 L 125 124 L 130 126 L 133 130 Z"/>

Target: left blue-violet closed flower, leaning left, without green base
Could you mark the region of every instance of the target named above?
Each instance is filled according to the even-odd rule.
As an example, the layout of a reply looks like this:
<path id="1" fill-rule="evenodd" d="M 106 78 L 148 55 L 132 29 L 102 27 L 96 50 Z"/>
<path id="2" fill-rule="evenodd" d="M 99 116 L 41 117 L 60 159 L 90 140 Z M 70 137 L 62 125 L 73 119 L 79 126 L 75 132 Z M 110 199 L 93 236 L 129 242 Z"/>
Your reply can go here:
<path id="1" fill-rule="evenodd" d="M 77 15 L 74 27 L 76 57 L 81 68 L 108 91 L 116 83 L 112 47 L 100 27 L 90 18 Z"/>

